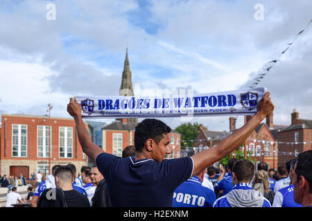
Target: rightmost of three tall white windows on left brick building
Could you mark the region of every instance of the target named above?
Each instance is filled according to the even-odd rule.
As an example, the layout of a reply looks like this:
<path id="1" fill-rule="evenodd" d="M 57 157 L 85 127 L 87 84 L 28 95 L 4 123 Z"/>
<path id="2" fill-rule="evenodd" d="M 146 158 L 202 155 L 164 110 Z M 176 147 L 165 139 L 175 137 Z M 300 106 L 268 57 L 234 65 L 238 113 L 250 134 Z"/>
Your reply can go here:
<path id="1" fill-rule="evenodd" d="M 60 126 L 60 158 L 73 157 L 73 128 L 67 126 Z"/>

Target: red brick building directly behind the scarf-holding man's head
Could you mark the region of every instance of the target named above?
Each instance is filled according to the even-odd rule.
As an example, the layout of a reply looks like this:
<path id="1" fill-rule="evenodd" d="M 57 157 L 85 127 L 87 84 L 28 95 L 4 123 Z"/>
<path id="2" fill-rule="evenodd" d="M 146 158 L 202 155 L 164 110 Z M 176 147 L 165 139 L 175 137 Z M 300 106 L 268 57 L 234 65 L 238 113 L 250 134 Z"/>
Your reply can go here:
<path id="1" fill-rule="evenodd" d="M 138 122 L 128 122 L 128 119 L 116 119 L 112 124 L 103 127 L 103 150 L 121 157 L 126 146 L 135 145 L 135 127 Z M 168 159 L 180 157 L 181 135 L 175 131 L 169 134 L 171 143 L 168 147 L 171 154 Z"/>

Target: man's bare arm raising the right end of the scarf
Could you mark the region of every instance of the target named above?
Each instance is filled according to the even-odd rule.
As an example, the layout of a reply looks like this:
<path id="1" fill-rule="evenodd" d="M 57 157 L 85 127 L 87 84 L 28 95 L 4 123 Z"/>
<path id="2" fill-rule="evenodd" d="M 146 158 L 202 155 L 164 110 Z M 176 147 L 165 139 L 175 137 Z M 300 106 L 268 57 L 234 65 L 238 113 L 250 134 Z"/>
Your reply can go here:
<path id="1" fill-rule="evenodd" d="M 226 137 L 218 146 L 211 147 L 196 155 L 191 156 L 194 162 L 193 174 L 198 173 L 207 166 L 218 162 L 227 154 L 239 147 L 247 137 L 254 131 L 261 121 L 272 113 L 274 105 L 269 97 L 270 93 L 265 93 L 257 106 L 257 113 L 252 116 L 247 124 L 239 128 L 232 135 Z"/>

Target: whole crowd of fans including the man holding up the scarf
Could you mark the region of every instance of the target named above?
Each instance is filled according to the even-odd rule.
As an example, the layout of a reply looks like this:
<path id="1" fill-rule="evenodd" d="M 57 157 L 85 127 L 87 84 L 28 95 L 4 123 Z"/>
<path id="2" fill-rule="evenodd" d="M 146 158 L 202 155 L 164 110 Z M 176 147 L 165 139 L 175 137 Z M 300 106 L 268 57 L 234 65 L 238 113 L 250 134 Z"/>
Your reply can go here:
<path id="1" fill-rule="evenodd" d="M 144 119 L 135 128 L 135 146 L 123 157 L 105 153 L 92 143 L 73 97 L 67 105 L 76 123 L 83 152 L 96 166 L 53 166 L 44 179 L 36 177 L 31 205 L 37 207 L 181 206 L 181 207 L 311 207 L 312 150 L 268 171 L 250 160 L 230 159 L 227 165 L 211 166 L 237 148 L 274 106 L 265 93 L 257 113 L 216 147 L 190 157 L 166 160 L 171 151 L 171 128 L 158 119 Z M 14 188 L 14 187 L 13 187 Z M 12 188 L 12 195 L 19 200 Z M 15 190 L 16 191 L 16 190 Z"/>

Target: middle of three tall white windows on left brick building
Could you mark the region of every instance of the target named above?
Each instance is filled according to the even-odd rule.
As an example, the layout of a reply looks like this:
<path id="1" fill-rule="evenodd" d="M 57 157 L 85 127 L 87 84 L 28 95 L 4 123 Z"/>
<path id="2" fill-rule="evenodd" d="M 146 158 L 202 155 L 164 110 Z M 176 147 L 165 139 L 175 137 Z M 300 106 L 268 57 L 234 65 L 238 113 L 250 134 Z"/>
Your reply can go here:
<path id="1" fill-rule="evenodd" d="M 49 157 L 51 126 L 37 126 L 37 157 Z"/>

